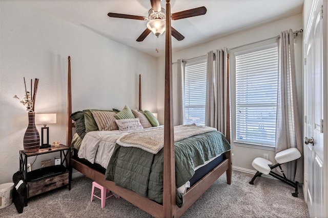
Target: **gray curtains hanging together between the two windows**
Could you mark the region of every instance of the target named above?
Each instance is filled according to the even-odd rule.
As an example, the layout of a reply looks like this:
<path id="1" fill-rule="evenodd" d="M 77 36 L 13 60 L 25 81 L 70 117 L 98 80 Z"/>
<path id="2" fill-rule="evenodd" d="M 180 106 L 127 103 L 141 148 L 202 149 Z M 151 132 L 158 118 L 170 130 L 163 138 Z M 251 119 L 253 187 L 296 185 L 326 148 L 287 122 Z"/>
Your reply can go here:
<path id="1" fill-rule="evenodd" d="M 214 127 L 226 135 L 226 78 L 224 71 L 224 52 L 216 50 L 208 53 L 205 126 Z"/>

